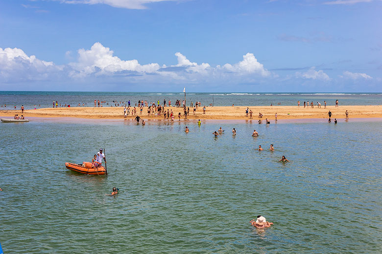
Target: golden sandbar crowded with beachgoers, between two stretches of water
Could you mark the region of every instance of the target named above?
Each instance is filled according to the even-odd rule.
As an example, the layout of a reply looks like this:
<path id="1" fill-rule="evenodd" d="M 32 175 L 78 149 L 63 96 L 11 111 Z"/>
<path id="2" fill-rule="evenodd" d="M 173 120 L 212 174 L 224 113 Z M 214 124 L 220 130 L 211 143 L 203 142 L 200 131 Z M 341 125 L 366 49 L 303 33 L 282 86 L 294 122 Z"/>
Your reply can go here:
<path id="1" fill-rule="evenodd" d="M 182 113 L 181 119 L 184 119 L 183 108 L 181 107 L 165 107 L 174 113 L 174 120 L 179 120 L 178 113 Z M 193 114 L 193 108 L 190 107 L 190 115 L 188 119 L 201 119 L 201 120 L 245 120 L 249 119 L 245 114 L 245 106 L 215 106 L 207 107 L 206 114 L 203 114 L 203 108 L 198 107 L 196 114 Z M 382 106 L 327 106 L 324 108 L 304 108 L 304 106 L 251 106 L 253 115 L 252 118 L 258 120 L 259 112 L 263 114 L 262 120 L 268 118 L 275 120 L 275 113 L 277 119 L 310 119 L 310 118 L 328 118 L 329 110 L 332 112 L 332 119 L 345 118 L 345 111 L 348 110 L 349 118 L 381 118 Z M 0 116 L 13 117 L 15 114 L 21 115 L 21 110 L 0 110 Z M 75 117 L 75 118 L 88 118 L 88 119 L 121 119 L 123 118 L 123 107 L 59 107 L 59 108 L 39 108 L 24 110 L 24 117 Z M 142 115 L 139 108 L 137 108 L 137 115 L 143 119 L 158 119 L 162 120 L 163 115 L 147 115 L 147 107 L 143 108 Z M 127 116 L 128 119 L 135 118 L 135 116 Z"/>

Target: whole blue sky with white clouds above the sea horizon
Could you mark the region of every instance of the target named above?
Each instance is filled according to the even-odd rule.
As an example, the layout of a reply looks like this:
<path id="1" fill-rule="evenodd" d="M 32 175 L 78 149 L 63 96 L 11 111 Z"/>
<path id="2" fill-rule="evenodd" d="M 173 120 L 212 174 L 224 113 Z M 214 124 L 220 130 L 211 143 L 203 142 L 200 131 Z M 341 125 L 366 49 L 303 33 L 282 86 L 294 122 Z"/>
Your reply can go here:
<path id="1" fill-rule="evenodd" d="M 0 90 L 382 92 L 382 0 L 2 0 Z"/>

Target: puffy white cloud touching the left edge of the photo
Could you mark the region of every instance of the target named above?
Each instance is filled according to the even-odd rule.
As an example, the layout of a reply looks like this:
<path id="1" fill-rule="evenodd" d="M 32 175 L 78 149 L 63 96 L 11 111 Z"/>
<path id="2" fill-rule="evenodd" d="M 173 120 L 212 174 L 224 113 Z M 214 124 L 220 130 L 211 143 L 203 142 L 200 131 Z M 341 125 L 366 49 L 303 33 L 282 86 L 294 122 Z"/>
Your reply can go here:
<path id="1" fill-rule="evenodd" d="M 4 81 L 43 80 L 63 69 L 53 62 L 28 56 L 20 48 L 0 48 L 0 78 Z"/>

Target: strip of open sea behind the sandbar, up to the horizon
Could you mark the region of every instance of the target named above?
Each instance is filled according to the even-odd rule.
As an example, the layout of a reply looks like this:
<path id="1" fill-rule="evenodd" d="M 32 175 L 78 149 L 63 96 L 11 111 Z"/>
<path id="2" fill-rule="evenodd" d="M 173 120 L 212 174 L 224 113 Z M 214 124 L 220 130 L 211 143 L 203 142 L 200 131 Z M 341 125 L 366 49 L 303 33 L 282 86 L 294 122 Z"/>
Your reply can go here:
<path id="1" fill-rule="evenodd" d="M 1 109 L 20 109 L 24 105 L 25 109 L 52 107 L 53 101 L 58 101 L 61 105 L 78 106 L 78 103 L 85 106 L 94 106 L 94 100 L 106 101 L 103 106 L 115 106 L 114 102 L 124 103 L 130 100 L 131 105 L 138 104 L 140 100 L 146 100 L 149 104 L 161 104 L 166 100 L 171 100 L 175 105 L 176 100 L 184 100 L 182 92 L 23 92 L 23 91 L 0 91 Z M 324 105 L 335 105 L 335 100 L 339 105 L 382 105 L 382 93 L 186 93 L 186 104 L 195 104 L 200 101 L 202 106 L 297 106 L 297 101 L 304 104 L 304 101 L 317 102 Z M 107 105 L 108 103 L 108 105 Z M 4 107 L 6 104 L 6 108 Z M 120 104 L 122 105 L 122 104 Z"/>

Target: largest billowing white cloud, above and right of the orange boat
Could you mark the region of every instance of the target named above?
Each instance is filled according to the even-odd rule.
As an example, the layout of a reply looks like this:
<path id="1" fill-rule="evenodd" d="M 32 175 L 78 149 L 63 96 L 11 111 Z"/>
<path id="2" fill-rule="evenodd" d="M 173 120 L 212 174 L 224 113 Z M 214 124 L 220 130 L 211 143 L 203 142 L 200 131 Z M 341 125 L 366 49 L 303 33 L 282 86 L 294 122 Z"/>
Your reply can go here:
<path id="1" fill-rule="evenodd" d="M 95 42 L 90 50 L 79 49 L 78 61 L 69 64 L 74 69 L 70 75 L 73 77 L 84 77 L 90 74 L 110 75 L 121 71 L 152 73 L 160 68 L 158 63 L 141 65 L 135 59 L 123 61 L 113 56 L 113 53 L 110 48 L 104 47 L 99 42 Z"/>

